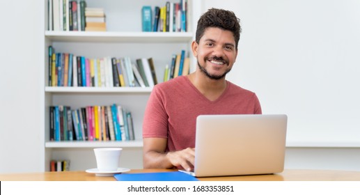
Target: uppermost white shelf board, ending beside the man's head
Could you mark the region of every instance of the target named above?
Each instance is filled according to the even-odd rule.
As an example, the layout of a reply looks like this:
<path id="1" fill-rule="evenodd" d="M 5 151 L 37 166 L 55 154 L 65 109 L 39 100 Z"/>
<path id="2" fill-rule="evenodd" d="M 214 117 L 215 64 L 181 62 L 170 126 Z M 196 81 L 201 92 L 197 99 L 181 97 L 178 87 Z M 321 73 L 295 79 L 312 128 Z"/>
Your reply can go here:
<path id="1" fill-rule="evenodd" d="M 60 42 L 191 42 L 193 34 L 169 32 L 45 31 L 45 37 Z"/>

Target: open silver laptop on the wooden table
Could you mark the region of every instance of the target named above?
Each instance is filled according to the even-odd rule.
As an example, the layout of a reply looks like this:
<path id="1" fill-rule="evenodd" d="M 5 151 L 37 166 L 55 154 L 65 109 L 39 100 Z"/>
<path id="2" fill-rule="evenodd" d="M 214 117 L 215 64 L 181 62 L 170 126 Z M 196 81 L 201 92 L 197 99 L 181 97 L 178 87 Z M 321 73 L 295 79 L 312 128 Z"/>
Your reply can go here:
<path id="1" fill-rule="evenodd" d="M 285 160 L 288 117 L 201 115 L 196 119 L 196 177 L 279 173 Z"/>

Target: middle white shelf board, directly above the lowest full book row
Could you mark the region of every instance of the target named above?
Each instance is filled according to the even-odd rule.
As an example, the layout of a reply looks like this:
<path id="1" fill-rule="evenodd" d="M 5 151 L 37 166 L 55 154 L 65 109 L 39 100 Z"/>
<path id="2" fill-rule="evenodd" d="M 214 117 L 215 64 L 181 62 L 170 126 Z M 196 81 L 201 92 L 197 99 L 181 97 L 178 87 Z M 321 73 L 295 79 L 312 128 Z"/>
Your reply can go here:
<path id="1" fill-rule="evenodd" d="M 45 87 L 47 93 L 150 93 L 151 91 L 152 87 Z"/>

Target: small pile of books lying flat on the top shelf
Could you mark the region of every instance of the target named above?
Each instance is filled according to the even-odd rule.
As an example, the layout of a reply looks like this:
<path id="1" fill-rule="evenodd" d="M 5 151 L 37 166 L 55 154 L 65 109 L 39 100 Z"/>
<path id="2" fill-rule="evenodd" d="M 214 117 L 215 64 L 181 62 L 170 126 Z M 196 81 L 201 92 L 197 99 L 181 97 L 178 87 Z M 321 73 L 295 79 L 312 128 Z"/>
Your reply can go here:
<path id="1" fill-rule="evenodd" d="M 85 31 L 107 31 L 104 8 L 85 8 Z"/>

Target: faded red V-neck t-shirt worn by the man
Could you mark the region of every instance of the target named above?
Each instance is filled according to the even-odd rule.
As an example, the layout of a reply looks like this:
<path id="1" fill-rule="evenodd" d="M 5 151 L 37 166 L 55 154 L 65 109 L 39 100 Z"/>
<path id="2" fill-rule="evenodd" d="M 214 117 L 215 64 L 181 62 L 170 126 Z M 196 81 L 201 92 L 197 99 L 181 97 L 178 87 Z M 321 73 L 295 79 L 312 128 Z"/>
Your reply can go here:
<path id="1" fill-rule="evenodd" d="M 261 114 L 255 93 L 227 81 L 214 101 L 185 76 L 155 85 L 143 118 L 143 138 L 167 138 L 166 151 L 195 147 L 196 117 L 201 114 Z"/>

